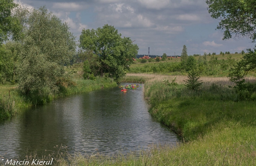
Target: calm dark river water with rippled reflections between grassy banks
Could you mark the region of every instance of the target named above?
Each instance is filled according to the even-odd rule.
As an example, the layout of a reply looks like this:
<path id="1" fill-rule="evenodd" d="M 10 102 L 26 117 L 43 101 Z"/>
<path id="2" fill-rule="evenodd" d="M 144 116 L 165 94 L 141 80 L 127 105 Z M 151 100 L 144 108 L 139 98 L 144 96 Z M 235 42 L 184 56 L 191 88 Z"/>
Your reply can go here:
<path id="1" fill-rule="evenodd" d="M 143 85 L 127 93 L 115 87 L 58 98 L 0 122 L 0 155 L 10 159 L 24 159 L 33 151 L 40 156 L 56 151 L 56 145 L 112 155 L 177 141 L 174 132 L 148 113 Z"/>

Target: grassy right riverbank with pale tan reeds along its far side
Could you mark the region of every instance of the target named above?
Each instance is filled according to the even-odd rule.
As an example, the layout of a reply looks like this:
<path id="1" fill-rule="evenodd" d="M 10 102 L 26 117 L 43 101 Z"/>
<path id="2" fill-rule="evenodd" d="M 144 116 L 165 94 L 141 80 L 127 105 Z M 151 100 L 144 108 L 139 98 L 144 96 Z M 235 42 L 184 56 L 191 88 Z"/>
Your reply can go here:
<path id="1" fill-rule="evenodd" d="M 158 156 L 162 165 L 255 165 L 255 93 L 250 100 L 239 101 L 226 77 L 201 77 L 204 84 L 198 91 L 186 89 L 184 76 L 177 76 L 177 86 L 163 83 L 163 79 L 173 78 L 129 74 L 123 80 L 145 82 L 151 115 L 186 142 L 166 148 Z M 255 78 L 247 81 L 255 83 Z"/>

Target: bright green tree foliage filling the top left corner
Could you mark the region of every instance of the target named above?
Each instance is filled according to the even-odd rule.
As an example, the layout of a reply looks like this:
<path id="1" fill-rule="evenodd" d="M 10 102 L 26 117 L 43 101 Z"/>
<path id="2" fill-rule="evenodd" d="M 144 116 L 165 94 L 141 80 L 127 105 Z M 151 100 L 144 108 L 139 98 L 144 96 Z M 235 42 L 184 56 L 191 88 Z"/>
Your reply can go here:
<path id="1" fill-rule="evenodd" d="M 0 0 L 0 45 L 11 33 L 16 34 L 21 28 L 19 21 L 12 17 L 12 10 L 16 6 L 13 0 Z"/>

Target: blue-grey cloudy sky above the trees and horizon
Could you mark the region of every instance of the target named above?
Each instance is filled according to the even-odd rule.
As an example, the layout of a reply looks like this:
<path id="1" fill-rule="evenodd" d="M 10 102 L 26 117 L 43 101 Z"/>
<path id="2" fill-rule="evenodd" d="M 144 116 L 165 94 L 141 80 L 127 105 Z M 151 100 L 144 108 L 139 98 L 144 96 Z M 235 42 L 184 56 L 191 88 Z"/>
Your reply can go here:
<path id="1" fill-rule="evenodd" d="M 180 55 L 241 52 L 254 45 L 249 39 L 222 40 L 215 30 L 219 20 L 210 17 L 204 0 L 14 0 L 29 8 L 46 6 L 68 23 L 79 39 L 81 31 L 114 25 L 122 37 L 130 37 L 140 48 L 138 54 Z"/>

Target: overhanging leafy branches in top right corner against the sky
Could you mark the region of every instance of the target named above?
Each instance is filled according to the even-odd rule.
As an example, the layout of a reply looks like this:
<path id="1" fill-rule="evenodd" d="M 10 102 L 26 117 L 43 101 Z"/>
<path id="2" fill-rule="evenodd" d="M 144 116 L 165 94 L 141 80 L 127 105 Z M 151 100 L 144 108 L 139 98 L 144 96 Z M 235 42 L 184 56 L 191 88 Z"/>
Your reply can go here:
<path id="1" fill-rule="evenodd" d="M 232 34 L 247 37 L 255 42 L 256 12 L 253 0 L 206 0 L 211 17 L 219 19 L 217 29 L 225 30 L 224 39 Z"/>

